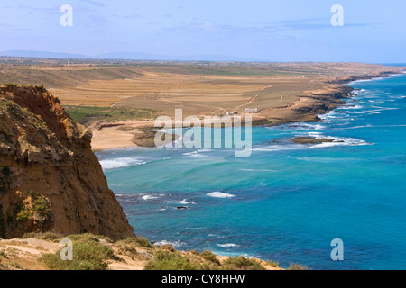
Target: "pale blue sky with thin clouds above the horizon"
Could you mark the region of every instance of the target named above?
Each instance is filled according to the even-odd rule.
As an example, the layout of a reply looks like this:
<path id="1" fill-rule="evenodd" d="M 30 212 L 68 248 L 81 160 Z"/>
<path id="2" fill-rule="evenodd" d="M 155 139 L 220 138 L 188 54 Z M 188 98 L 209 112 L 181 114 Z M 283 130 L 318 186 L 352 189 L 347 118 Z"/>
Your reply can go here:
<path id="1" fill-rule="evenodd" d="M 405 12 L 404 0 L 0 0 L 0 51 L 406 63 Z"/>

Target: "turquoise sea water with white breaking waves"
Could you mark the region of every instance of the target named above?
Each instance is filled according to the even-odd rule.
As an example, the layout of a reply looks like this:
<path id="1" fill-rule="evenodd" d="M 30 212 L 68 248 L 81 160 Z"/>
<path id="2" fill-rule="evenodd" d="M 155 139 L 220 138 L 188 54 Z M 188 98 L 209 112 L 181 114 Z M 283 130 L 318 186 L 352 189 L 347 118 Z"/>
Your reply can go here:
<path id="1" fill-rule="evenodd" d="M 251 157 L 215 148 L 97 157 L 135 233 L 151 241 L 283 267 L 405 269 L 406 75 L 351 85 L 354 97 L 322 122 L 254 128 Z M 334 238 L 344 261 L 330 258 Z"/>

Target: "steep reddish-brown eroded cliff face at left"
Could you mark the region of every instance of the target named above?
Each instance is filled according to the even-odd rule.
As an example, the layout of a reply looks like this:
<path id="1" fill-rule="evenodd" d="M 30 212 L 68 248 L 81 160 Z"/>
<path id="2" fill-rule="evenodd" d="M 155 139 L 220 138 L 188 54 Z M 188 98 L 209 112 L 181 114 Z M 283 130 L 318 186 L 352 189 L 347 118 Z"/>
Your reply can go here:
<path id="1" fill-rule="evenodd" d="M 0 237 L 133 235 L 90 149 L 91 132 L 42 86 L 0 86 Z"/>

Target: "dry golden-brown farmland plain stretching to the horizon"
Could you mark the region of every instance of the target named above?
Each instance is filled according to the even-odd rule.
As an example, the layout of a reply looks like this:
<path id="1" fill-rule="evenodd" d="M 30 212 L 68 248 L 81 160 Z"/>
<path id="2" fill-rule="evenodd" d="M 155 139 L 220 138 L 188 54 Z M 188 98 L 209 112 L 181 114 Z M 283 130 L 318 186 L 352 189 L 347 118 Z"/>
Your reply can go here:
<path id="1" fill-rule="evenodd" d="M 84 61 L 86 62 L 86 61 Z M 0 83 L 43 84 L 64 105 L 146 108 L 173 116 L 244 112 L 289 105 L 328 81 L 388 69 L 352 63 L 1 64 Z"/>

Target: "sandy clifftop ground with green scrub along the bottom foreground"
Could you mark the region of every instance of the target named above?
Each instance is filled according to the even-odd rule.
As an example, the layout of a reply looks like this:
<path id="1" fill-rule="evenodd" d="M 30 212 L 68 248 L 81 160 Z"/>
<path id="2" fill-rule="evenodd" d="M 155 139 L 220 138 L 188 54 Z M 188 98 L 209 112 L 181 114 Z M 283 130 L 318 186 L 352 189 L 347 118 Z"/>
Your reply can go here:
<path id="1" fill-rule="evenodd" d="M 27 233 L 23 238 L 35 238 L 50 241 L 53 247 L 59 245 L 61 237 L 53 233 Z M 110 264 L 120 262 L 120 265 L 134 265 L 143 267 L 145 270 L 263 270 L 264 267 L 257 259 L 245 257 L 231 257 L 221 263 L 217 256 L 205 250 L 198 253 L 195 250 L 181 252 L 171 245 L 154 246 L 142 237 L 126 238 L 112 241 L 104 236 L 91 233 L 74 234 L 64 236 L 73 243 L 73 260 L 62 260 L 60 247 L 57 252 L 43 253 L 43 247 L 37 248 L 42 251 L 42 256 L 36 258 L 36 266 L 42 266 L 51 270 L 106 270 Z M 7 240 L 12 246 L 24 246 L 26 242 Z M 146 245 L 148 243 L 148 246 Z M 146 247 L 147 246 L 147 247 Z M 57 246 L 58 247 L 58 246 Z M 29 267 L 25 265 L 18 254 L 12 253 L 14 247 L 7 248 L 7 261 L 3 262 L 4 268 L 14 266 L 14 260 L 18 260 L 19 269 Z M 0 252 L 5 250 L 0 247 Z M 46 249 L 45 249 L 46 250 Z M 0 253 L 0 258 L 5 258 Z M 17 257 L 17 258 L 16 258 Z M 148 260 L 148 261 L 146 261 Z M 39 262 L 38 262 L 39 261 Z M 138 262 L 140 261 L 140 262 Z M 146 262 L 145 262 L 146 261 Z M 17 263 L 15 262 L 15 263 Z M 114 265 L 112 266 L 114 267 Z"/>

